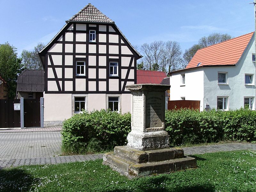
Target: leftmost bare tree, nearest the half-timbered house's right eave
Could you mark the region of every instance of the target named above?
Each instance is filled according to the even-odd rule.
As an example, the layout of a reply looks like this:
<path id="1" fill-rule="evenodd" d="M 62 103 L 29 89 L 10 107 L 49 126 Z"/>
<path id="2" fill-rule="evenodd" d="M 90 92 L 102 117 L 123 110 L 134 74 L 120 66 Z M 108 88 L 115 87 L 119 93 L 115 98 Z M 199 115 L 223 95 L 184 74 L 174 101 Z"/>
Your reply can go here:
<path id="1" fill-rule="evenodd" d="M 154 41 L 151 44 L 144 43 L 141 45 L 141 51 L 144 54 L 144 62 L 149 70 L 159 70 L 161 58 L 164 52 L 164 42 Z"/>

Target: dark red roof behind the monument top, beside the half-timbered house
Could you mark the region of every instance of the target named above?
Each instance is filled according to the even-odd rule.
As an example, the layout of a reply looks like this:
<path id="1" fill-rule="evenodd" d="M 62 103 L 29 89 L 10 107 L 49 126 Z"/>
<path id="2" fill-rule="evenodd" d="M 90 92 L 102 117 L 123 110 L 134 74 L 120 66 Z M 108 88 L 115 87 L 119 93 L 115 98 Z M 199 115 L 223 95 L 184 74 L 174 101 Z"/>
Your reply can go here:
<path id="1" fill-rule="evenodd" d="M 165 77 L 164 71 L 137 70 L 137 84 L 160 84 Z"/>

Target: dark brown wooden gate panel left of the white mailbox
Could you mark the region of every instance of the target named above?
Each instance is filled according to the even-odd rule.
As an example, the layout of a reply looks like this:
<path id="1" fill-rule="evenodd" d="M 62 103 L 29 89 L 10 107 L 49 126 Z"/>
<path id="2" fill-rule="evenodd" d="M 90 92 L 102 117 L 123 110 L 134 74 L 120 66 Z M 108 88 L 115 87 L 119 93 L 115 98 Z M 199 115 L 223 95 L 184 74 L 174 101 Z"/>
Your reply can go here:
<path id="1" fill-rule="evenodd" d="M 20 111 L 14 110 L 14 103 L 20 103 L 20 100 L 0 100 L 0 128 L 20 127 Z"/>

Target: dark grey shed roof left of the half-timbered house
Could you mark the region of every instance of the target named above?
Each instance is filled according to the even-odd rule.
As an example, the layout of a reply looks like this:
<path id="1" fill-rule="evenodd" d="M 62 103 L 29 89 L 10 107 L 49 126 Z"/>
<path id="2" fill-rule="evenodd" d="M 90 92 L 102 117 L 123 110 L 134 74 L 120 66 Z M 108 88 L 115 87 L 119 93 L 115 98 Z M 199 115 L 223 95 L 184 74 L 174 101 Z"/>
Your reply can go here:
<path id="1" fill-rule="evenodd" d="M 44 70 L 25 69 L 18 76 L 17 92 L 44 92 Z"/>

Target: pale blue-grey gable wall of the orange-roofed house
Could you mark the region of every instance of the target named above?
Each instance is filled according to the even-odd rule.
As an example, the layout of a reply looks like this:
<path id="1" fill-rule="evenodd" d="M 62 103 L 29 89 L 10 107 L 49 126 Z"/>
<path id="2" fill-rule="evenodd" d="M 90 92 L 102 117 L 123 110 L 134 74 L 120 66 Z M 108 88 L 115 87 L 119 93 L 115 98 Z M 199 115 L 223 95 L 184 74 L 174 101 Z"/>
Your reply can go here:
<path id="1" fill-rule="evenodd" d="M 254 41 L 251 40 L 236 66 L 204 68 L 204 105 L 217 108 L 217 96 L 228 96 L 229 109 L 244 107 L 244 97 L 255 99 L 255 64 L 252 62 Z M 228 84 L 218 84 L 218 71 L 228 72 Z M 254 85 L 244 84 L 244 74 L 254 74 Z M 255 102 L 254 107 L 255 109 Z"/>

